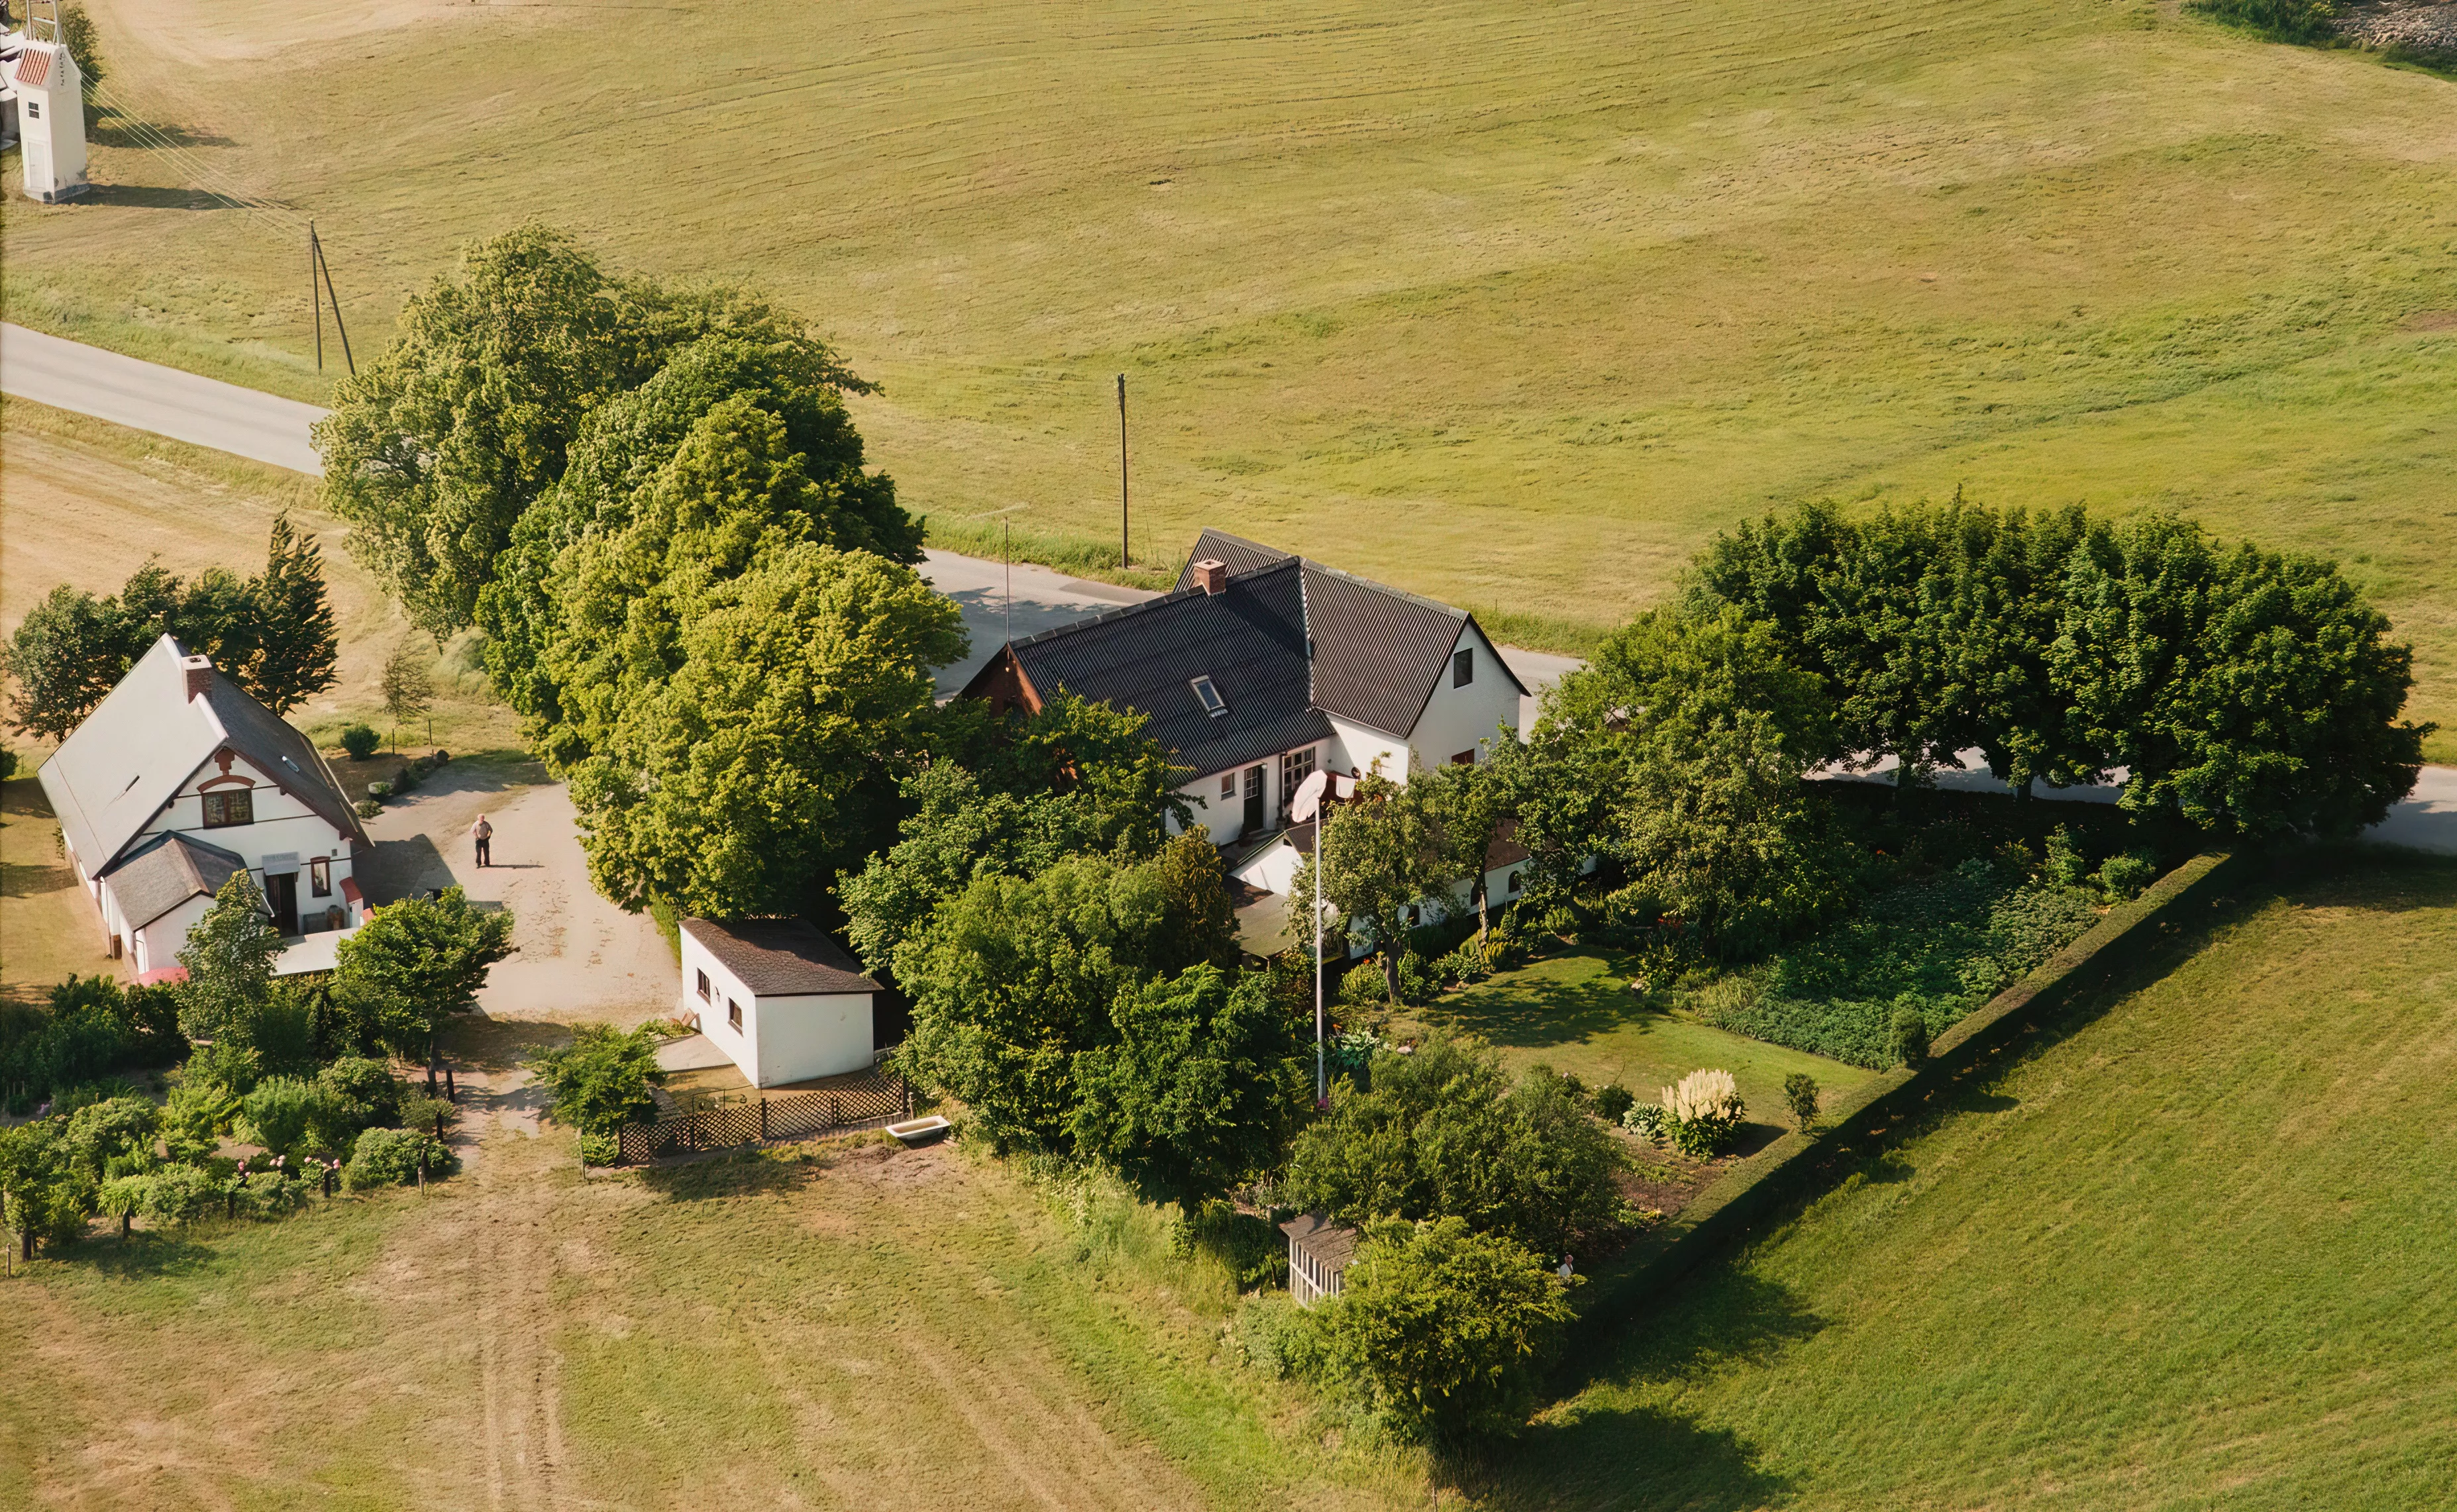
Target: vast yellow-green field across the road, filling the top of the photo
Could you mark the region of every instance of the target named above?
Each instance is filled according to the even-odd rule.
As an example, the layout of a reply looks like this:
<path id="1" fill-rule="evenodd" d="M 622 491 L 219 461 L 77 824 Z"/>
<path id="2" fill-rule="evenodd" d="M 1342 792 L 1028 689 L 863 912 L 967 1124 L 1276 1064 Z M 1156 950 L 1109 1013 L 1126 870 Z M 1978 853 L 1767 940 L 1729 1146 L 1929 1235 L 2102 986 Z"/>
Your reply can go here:
<path id="1" fill-rule="evenodd" d="M 2346 562 L 2457 727 L 2447 79 L 2162 0 L 93 10 L 130 115 L 12 319 L 317 398 L 307 216 L 359 351 L 543 216 L 811 312 L 948 523 L 1113 540 L 1118 371 L 1138 555 L 1555 643 L 1769 503 L 2177 506 Z"/>

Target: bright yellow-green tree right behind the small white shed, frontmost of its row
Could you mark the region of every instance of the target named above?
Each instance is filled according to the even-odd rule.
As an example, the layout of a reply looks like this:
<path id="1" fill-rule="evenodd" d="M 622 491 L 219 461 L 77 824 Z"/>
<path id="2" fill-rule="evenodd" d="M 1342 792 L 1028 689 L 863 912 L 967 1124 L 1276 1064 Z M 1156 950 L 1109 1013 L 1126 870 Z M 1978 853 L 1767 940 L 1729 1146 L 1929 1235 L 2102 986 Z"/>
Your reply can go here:
<path id="1" fill-rule="evenodd" d="M 909 567 L 811 540 L 678 611 L 673 673 L 604 709 L 572 766 L 590 876 L 627 908 L 803 913 L 887 839 L 963 623 Z"/>

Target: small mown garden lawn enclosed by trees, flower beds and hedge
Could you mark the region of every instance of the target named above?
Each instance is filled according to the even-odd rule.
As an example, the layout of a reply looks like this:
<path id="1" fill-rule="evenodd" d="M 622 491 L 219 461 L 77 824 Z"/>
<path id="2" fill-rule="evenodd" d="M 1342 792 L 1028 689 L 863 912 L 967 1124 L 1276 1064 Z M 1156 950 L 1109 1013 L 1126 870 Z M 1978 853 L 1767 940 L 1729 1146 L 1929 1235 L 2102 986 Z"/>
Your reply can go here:
<path id="1" fill-rule="evenodd" d="M 1514 1065 L 1548 1063 L 1590 1087 L 1622 1082 L 1639 1100 L 1700 1068 L 1722 1068 L 1749 1102 L 1749 1122 L 1789 1127 L 1784 1078 L 1799 1070 L 1838 1092 L 1872 1073 L 1649 1006 L 1629 992 L 1629 967 L 1595 952 L 1555 955 L 1442 997 L 1413 1021 L 1474 1033 Z"/>

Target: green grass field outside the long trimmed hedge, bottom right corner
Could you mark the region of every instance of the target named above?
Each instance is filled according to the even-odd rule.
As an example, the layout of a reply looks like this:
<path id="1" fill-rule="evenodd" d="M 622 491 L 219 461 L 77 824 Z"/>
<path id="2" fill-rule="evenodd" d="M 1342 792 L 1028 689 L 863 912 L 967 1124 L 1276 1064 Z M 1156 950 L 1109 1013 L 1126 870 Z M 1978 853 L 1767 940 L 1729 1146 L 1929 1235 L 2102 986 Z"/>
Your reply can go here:
<path id="1" fill-rule="evenodd" d="M 2425 1507 L 2457 1463 L 2457 864 L 2246 881 L 1641 1313 L 1504 1507 Z"/>

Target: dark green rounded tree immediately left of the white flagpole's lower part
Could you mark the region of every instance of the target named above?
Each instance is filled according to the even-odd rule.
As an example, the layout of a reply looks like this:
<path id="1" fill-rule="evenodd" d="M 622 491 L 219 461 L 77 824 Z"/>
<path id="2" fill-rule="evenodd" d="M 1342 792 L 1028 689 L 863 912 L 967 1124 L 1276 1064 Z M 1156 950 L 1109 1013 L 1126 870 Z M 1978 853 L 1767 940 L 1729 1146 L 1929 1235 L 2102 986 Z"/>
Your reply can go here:
<path id="1" fill-rule="evenodd" d="M 1076 1053 L 1074 1146 L 1194 1213 L 1280 1163 L 1305 1107 L 1290 1019 L 1214 965 L 1118 992 L 1111 1043 Z"/>

